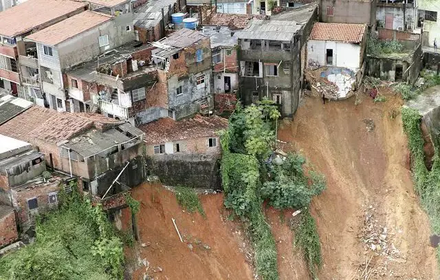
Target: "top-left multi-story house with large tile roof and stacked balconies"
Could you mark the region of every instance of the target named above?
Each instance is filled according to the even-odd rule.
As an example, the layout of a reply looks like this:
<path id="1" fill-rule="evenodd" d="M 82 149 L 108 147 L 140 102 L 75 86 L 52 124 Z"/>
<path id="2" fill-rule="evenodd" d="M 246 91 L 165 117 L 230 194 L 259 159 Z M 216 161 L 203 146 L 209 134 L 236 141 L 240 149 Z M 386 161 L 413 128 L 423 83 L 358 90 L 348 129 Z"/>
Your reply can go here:
<path id="1" fill-rule="evenodd" d="M 35 44 L 24 38 L 86 8 L 79 1 L 29 0 L 0 12 L 0 91 L 42 100 Z"/>

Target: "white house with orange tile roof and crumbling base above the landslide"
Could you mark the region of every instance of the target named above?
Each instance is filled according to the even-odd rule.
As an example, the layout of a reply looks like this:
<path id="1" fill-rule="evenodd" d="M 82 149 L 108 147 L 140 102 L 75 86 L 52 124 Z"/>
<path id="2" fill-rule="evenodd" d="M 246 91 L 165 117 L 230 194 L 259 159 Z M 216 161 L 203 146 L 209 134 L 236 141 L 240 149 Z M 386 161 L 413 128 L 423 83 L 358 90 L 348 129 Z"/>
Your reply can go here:
<path id="1" fill-rule="evenodd" d="M 307 80 L 326 98 L 347 98 L 364 74 L 366 25 L 315 23 L 307 43 Z"/>

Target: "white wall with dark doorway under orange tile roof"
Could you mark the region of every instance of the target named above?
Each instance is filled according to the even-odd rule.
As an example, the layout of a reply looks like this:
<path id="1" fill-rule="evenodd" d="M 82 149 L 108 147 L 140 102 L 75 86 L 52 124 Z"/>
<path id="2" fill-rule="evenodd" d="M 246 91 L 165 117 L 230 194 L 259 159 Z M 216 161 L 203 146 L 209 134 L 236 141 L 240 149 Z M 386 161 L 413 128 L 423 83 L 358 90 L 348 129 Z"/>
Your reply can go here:
<path id="1" fill-rule="evenodd" d="M 307 58 L 326 65 L 327 49 L 333 50 L 333 66 L 359 69 L 360 45 L 337 41 L 309 40 L 307 43 Z"/>

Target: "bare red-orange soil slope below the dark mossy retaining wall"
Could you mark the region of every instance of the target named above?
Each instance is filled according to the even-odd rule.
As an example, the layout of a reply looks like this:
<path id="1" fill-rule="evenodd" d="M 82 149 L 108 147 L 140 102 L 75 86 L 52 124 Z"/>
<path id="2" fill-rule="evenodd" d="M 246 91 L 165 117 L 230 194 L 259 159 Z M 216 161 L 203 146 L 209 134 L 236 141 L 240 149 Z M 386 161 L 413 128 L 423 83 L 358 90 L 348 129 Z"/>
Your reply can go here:
<path id="1" fill-rule="evenodd" d="M 248 262 L 252 258 L 246 254 L 249 244 L 243 239 L 239 222 L 226 220 L 223 195 L 199 195 L 206 218 L 182 211 L 174 193 L 160 185 L 137 186 L 133 197 L 141 202 L 137 225 L 144 247 L 137 246 L 137 252 L 131 250 L 127 255 L 148 261 L 147 266 L 137 266 L 133 280 L 144 279 L 146 267 L 155 280 L 254 278 Z M 124 217 L 129 219 L 128 215 Z"/>

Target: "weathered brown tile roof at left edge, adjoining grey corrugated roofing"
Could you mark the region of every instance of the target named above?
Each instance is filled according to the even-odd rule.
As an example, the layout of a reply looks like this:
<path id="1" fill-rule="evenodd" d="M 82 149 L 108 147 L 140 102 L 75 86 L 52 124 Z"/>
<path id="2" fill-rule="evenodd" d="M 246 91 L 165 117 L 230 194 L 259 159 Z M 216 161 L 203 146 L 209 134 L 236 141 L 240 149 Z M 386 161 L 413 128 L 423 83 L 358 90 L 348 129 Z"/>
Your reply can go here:
<path id="1" fill-rule="evenodd" d="M 0 134 L 34 144 L 35 139 L 51 143 L 69 140 L 92 127 L 119 123 L 98 114 L 72 114 L 32 106 L 0 126 Z"/>

